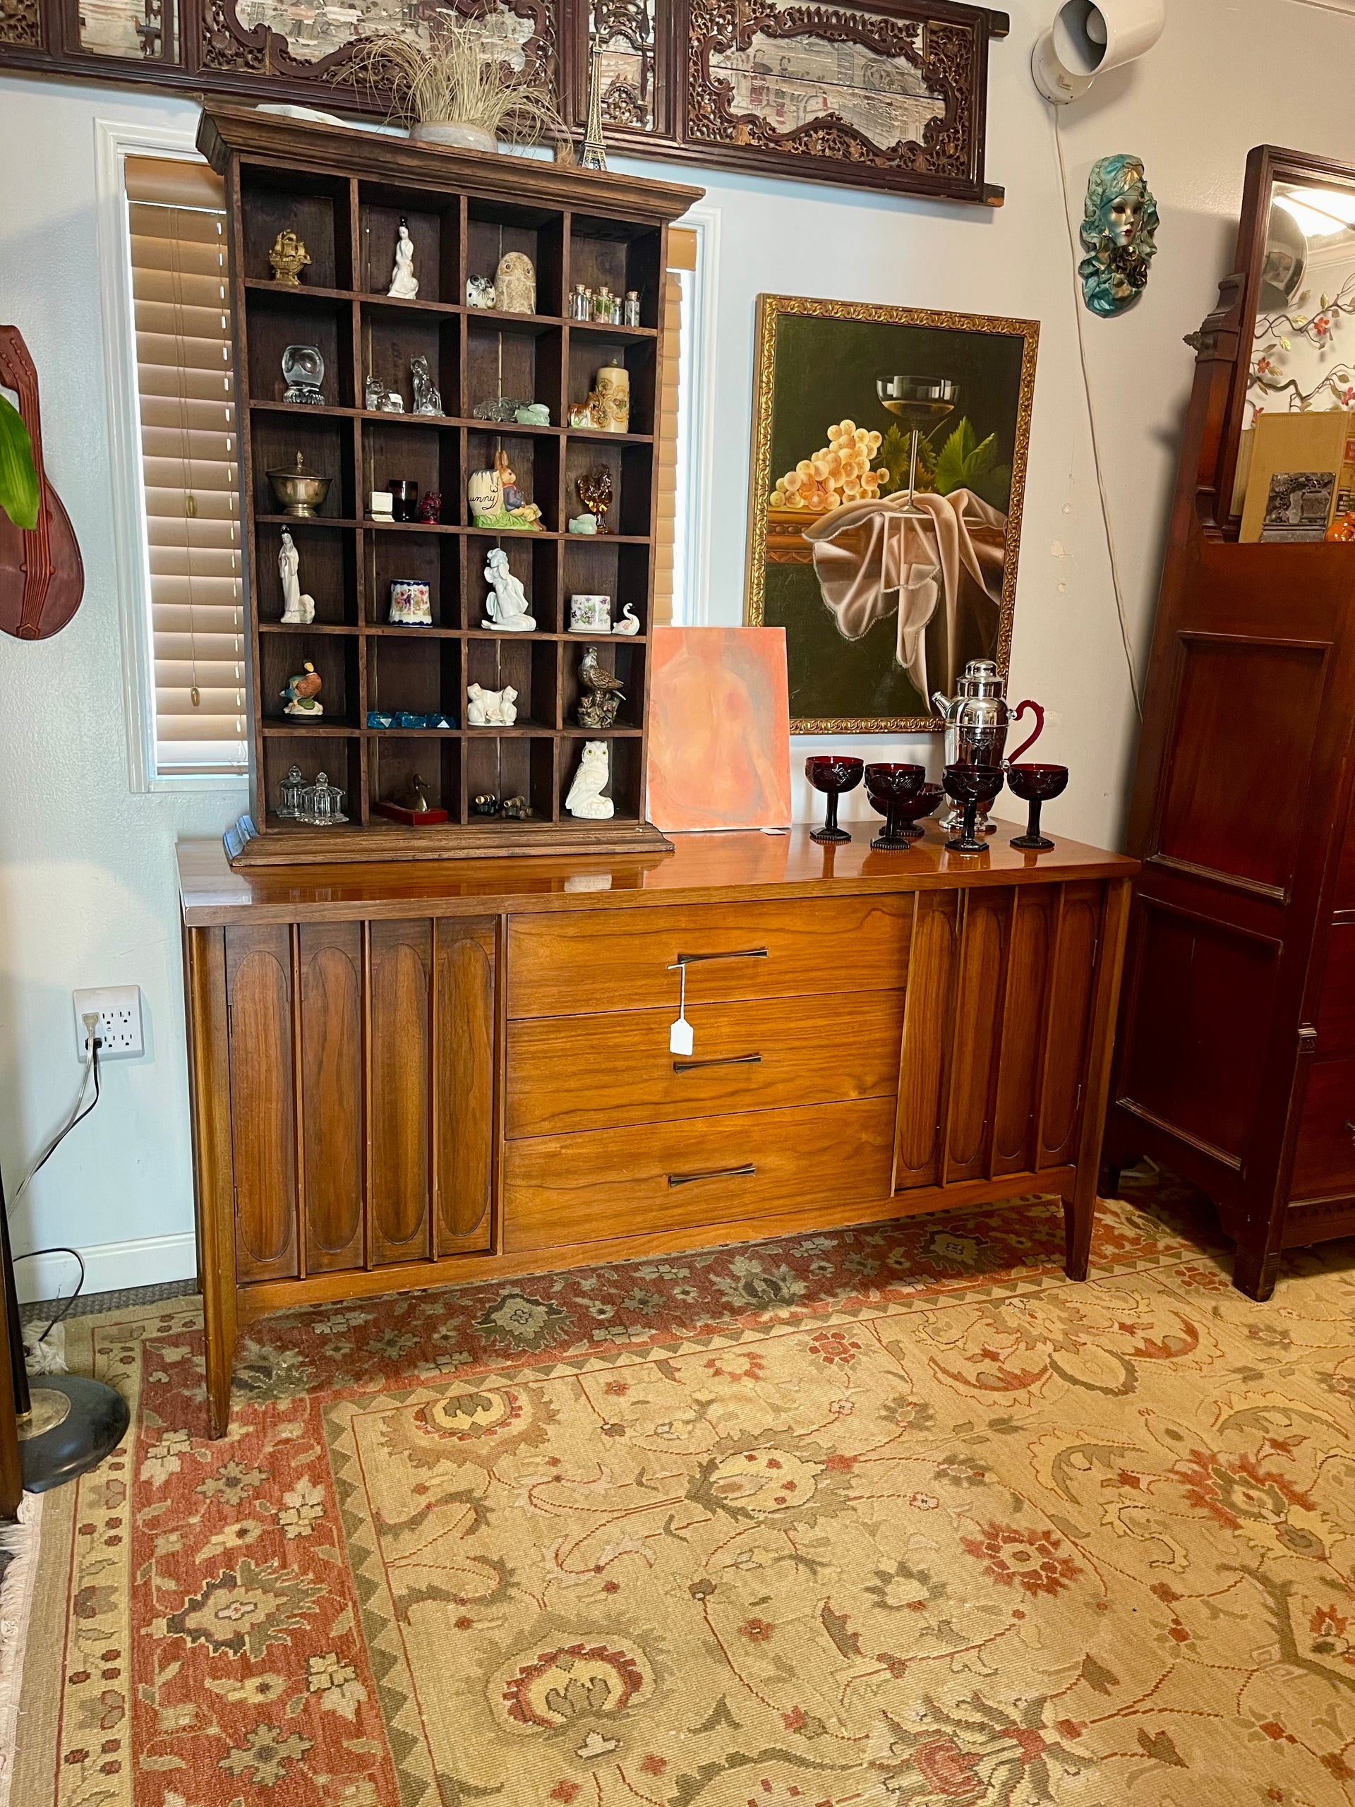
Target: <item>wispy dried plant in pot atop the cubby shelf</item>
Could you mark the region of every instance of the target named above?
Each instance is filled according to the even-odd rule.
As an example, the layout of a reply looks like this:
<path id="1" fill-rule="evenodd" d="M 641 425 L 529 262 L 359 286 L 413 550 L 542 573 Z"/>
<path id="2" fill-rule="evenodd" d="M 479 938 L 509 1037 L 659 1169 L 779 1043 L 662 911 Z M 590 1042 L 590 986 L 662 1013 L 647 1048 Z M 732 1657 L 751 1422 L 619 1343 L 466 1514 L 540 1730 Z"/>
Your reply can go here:
<path id="1" fill-rule="evenodd" d="M 425 145 L 499 150 L 553 139 L 556 157 L 573 161 L 569 126 L 540 80 L 515 80 L 504 61 L 509 45 L 475 20 L 439 9 L 428 42 L 381 33 L 361 38 L 343 80 L 365 80 L 390 99 L 390 119 Z"/>

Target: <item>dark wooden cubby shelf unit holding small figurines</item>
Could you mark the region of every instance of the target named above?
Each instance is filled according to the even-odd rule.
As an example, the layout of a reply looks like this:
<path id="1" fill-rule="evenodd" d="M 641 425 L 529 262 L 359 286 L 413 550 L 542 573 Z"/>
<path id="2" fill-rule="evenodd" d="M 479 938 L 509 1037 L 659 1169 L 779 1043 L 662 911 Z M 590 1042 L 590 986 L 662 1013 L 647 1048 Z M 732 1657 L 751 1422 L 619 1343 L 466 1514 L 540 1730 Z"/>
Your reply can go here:
<path id="1" fill-rule="evenodd" d="M 237 864 L 446 858 L 504 853 L 667 851 L 645 822 L 659 367 L 668 222 L 699 190 L 607 172 L 278 119 L 237 107 L 202 114 L 199 148 L 226 179 L 240 403 L 240 497 L 246 542 L 251 820 Z M 416 246 L 417 300 L 385 291 L 396 233 Z M 273 280 L 269 249 L 293 228 L 311 257 L 300 286 Z M 466 305 L 468 276 L 493 276 L 506 251 L 537 269 L 535 314 Z M 638 327 L 567 318 L 575 284 L 640 291 Z M 282 354 L 316 345 L 323 405 L 285 403 Z M 444 414 L 372 412 L 372 376 L 412 410 L 410 361 L 425 358 Z M 631 432 L 569 428 L 603 363 L 631 372 Z M 477 419 L 497 396 L 544 401 L 549 426 Z M 540 531 L 475 528 L 466 479 L 506 450 Z M 311 517 L 280 511 L 267 472 L 298 452 L 331 477 Z M 578 479 L 607 470 L 612 502 L 600 535 L 571 535 Z M 396 479 L 441 495 L 437 522 L 372 520 L 369 497 Z M 300 555 L 314 622 L 282 622 L 282 533 Z M 526 587 L 537 632 L 482 629 L 486 555 L 502 546 Z M 432 625 L 390 625 L 390 585 L 428 584 Z M 614 614 L 631 604 L 636 636 L 571 634 L 569 596 L 603 591 Z M 578 726 L 578 661 L 625 683 L 616 726 Z M 322 679 L 323 717 L 284 712 L 284 685 L 304 661 Z M 466 725 L 466 687 L 513 685 L 517 723 Z M 369 728 L 372 714 L 443 714 L 453 728 Z M 611 754 L 614 815 L 576 820 L 565 795 L 587 739 Z M 309 828 L 276 815 L 291 766 L 325 772 L 347 791 L 349 820 Z M 414 779 L 446 824 L 403 826 L 378 811 L 403 802 Z M 531 817 L 481 817 L 477 797 L 526 797 Z"/>

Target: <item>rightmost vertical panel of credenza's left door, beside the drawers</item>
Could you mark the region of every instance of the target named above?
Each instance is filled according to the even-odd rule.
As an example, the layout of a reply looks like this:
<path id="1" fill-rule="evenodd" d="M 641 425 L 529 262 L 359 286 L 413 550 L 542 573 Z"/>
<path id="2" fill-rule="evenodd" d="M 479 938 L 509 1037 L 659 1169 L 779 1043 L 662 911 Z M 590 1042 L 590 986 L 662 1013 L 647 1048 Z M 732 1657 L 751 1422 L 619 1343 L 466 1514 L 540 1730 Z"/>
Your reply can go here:
<path id="1" fill-rule="evenodd" d="M 437 923 L 434 1254 L 490 1249 L 493 1218 L 493 918 Z M 560 1075 L 556 1073 L 556 1082 Z"/>

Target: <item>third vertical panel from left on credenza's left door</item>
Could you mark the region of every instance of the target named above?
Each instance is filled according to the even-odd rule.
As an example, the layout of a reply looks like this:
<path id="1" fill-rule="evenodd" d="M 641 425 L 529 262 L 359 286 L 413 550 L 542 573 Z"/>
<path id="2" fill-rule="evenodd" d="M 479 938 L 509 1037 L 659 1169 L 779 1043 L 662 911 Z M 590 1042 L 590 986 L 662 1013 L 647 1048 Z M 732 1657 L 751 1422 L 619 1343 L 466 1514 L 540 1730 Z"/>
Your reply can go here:
<path id="1" fill-rule="evenodd" d="M 432 923 L 374 922 L 370 1261 L 428 1254 L 428 969 Z"/>

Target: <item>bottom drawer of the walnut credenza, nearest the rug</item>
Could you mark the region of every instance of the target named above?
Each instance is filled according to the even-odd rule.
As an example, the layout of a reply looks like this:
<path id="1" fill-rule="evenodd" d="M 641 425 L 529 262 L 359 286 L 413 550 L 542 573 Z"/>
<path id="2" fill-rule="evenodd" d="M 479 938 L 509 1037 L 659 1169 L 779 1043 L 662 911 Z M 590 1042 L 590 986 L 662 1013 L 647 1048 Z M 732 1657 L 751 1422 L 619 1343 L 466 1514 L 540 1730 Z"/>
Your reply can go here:
<path id="1" fill-rule="evenodd" d="M 504 1149 L 504 1252 L 887 1205 L 894 1100 L 529 1137 Z"/>

